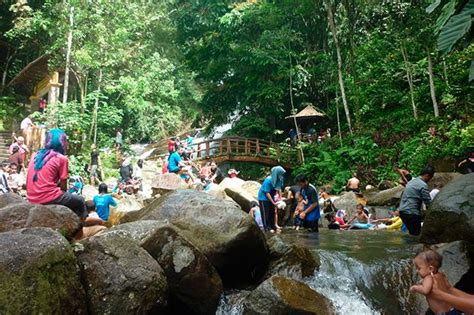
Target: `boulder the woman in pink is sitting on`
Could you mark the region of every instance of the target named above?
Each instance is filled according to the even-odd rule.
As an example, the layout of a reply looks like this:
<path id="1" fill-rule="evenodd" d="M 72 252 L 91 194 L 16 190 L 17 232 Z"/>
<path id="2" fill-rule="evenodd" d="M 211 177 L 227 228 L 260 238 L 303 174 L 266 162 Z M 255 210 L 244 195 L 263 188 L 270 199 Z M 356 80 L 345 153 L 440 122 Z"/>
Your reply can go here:
<path id="1" fill-rule="evenodd" d="M 14 201 L 12 203 L 12 201 Z M 29 227 L 49 227 L 71 239 L 81 228 L 81 220 L 69 208 L 16 202 L 9 194 L 0 196 L 0 232 Z"/>

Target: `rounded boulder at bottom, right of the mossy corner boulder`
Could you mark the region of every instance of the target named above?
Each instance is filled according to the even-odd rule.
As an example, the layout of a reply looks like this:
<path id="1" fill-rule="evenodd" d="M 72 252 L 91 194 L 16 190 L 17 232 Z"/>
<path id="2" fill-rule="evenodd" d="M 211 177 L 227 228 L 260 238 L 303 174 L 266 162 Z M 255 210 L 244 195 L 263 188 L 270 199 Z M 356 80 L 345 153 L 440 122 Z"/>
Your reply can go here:
<path id="1" fill-rule="evenodd" d="M 163 270 L 127 233 L 81 241 L 76 251 L 91 314 L 144 314 L 166 305 Z"/>

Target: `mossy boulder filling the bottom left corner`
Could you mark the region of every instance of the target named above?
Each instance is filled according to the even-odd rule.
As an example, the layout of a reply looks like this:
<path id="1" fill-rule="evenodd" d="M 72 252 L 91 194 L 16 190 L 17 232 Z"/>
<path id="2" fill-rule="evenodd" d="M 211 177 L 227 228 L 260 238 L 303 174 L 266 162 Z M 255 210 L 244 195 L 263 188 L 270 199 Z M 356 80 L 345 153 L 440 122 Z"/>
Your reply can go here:
<path id="1" fill-rule="evenodd" d="M 74 253 L 48 228 L 0 233 L 0 313 L 87 314 Z"/>

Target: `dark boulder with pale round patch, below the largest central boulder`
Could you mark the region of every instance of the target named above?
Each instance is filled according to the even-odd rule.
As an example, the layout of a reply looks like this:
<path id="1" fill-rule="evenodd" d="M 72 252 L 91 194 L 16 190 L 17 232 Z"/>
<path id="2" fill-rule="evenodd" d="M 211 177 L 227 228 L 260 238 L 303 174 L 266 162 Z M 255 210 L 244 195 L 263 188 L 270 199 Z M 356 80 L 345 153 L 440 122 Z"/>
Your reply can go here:
<path id="1" fill-rule="evenodd" d="M 223 292 L 221 278 L 178 228 L 162 221 L 144 220 L 121 224 L 114 230 L 129 232 L 163 268 L 173 313 L 216 313 Z"/>

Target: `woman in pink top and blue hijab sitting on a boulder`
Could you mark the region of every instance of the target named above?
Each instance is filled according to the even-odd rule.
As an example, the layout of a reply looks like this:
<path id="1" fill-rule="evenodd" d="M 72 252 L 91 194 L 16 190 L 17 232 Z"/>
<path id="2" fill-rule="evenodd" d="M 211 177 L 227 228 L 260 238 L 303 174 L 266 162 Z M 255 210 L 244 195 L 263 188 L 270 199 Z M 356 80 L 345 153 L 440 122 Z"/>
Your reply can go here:
<path id="1" fill-rule="evenodd" d="M 87 217 L 84 198 L 66 192 L 69 177 L 69 160 L 65 156 L 67 146 L 63 130 L 52 129 L 48 132 L 44 148 L 31 157 L 28 166 L 28 200 L 36 204 L 66 206 L 84 219 Z"/>

